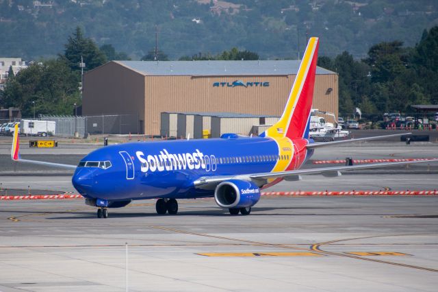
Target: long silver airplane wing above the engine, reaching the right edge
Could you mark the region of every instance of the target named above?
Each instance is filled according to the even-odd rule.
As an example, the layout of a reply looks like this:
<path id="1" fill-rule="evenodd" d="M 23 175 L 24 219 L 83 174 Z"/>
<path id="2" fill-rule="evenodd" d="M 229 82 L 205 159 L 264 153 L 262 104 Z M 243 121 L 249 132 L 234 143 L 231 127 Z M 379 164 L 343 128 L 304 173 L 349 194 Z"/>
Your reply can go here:
<path id="1" fill-rule="evenodd" d="M 251 180 L 258 183 L 259 185 L 264 184 L 260 183 L 272 178 L 293 178 L 302 174 L 315 174 L 321 173 L 326 176 L 339 176 L 338 172 L 341 171 L 350 171 L 356 169 L 372 169 L 378 167 L 390 167 L 394 165 L 409 165 L 413 163 L 425 163 L 425 162 L 438 162 L 438 159 L 429 159 L 429 160 L 418 160 L 418 161 L 403 161 L 403 162 L 383 162 L 383 163 L 373 163 L 368 165 L 352 165 L 352 166 L 340 166 L 340 167 L 322 167 L 316 169 L 297 169 L 293 171 L 280 171 L 280 172 L 268 172 L 268 173 L 248 173 L 244 175 L 224 175 L 224 176 L 216 176 L 216 177 L 205 177 L 200 178 L 194 182 L 194 185 L 198 188 L 210 189 L 216 187 L 217 184 L 223 182 L 224 180 Z"/>

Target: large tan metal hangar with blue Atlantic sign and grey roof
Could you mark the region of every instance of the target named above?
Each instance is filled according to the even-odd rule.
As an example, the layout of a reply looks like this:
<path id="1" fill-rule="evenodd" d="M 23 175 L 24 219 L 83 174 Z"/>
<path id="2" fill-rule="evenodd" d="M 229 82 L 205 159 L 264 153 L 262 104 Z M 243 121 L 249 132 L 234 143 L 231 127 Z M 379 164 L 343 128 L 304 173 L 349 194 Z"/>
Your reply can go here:
<path id="1" fill-rule="evenodd" d="M 107 62 L 83 75 L 82 113 L 127 114 L 132 119 L 123 132 L 151 135 L 162 132 L 162 112 L 278 117 L 299 65 L 299 60 Z M 313 108 L 337 116 L 337 73 L 317 67 Z"/>

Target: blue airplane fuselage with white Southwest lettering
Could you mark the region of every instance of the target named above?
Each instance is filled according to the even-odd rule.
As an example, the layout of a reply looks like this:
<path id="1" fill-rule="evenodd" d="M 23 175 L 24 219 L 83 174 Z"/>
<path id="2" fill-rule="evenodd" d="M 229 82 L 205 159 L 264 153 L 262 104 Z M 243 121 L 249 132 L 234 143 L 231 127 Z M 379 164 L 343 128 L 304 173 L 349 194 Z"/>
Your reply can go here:
<path id="1" fill-rule="evenodd" d="M 259 137 L 111 145 L 84 157 L 72 181 L 84 197 L 112 201 L 211 197 L 214 191 L 199 190 L 194 181 L 268 173 L 274 171 L 279 160 L 292 161 L 301 152 L 304 159 L 294 165 L 296 169 L 311 156 L 306 149 L 294 151 L 290 147 L 286 154 L 279 148 L 272 138 Z"/>

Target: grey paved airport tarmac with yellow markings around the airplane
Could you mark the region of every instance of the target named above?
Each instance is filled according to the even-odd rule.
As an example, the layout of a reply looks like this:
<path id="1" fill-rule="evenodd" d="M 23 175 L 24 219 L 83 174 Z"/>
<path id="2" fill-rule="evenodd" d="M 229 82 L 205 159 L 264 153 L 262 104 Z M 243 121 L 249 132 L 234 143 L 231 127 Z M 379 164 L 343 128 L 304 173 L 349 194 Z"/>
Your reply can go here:
<path id="1" fill-rule="evenodd" d="M 93 147 L 23 156 L 76 164 Z M 317 149 L 313 159 L 435 158 L 437 147 L 361 143 Z M 14 172 L 5 149 L 1 188 L 74 192 L 68 175 Z M 435 171 L 426 163 L 307 175 L 267 191 L 432 190 Z M 179 200 L 178 215 L 156 215 L 145 200 L 97 219 L 82 199 L 0 201 L 0 291 L 436 291 L 437 207 L 436 195 L 263 196 L 248 216 L 214 199 Z"/>

